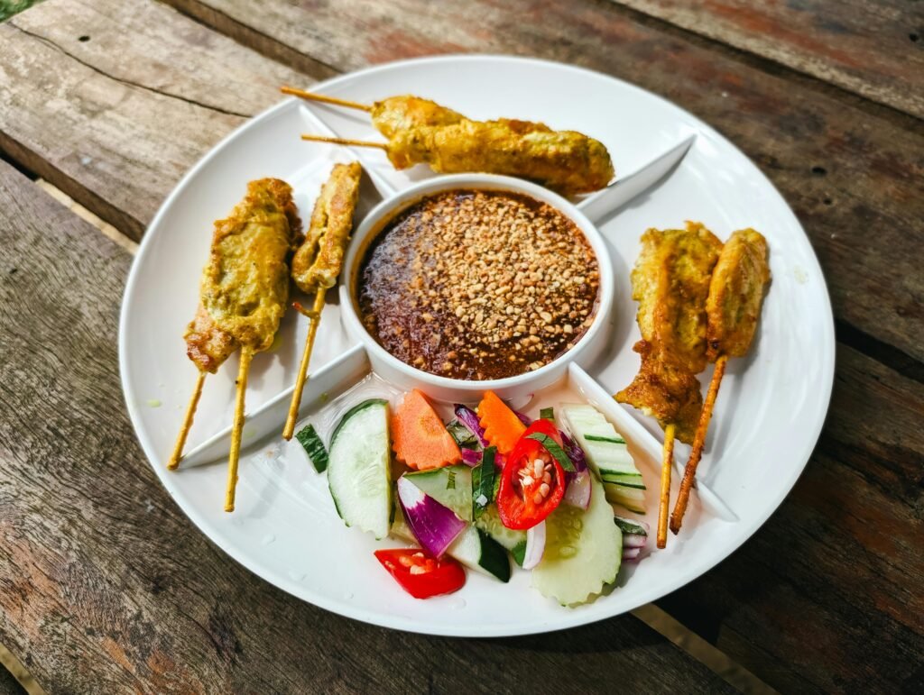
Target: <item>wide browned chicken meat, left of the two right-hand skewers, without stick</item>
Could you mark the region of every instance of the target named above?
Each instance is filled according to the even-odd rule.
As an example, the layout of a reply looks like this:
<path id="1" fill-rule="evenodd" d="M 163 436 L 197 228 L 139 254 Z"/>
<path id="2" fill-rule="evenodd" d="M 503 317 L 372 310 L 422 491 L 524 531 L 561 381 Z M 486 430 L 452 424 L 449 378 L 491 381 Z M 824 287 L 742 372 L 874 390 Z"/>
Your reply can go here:
<path id="1" fill-rule="evenodd" d="M 696 375 L 706 368 L 706 299 L 722 242 L 699 222 L 687 222 L 683 230 L 650 229 L 641 244 L 632 270 L 642 337 L 633 350 L 641 367 L 615 398 L 662 427 L 673 423 L 676 437 L 689 443 L 702 407 Z"/>

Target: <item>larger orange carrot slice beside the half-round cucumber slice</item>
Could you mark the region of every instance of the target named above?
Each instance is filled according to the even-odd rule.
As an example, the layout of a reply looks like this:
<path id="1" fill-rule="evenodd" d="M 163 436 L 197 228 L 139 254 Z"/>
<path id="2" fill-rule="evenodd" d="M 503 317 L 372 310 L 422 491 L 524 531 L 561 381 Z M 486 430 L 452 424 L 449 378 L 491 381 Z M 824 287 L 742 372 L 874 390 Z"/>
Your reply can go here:
<path id="1" fill-rule="evenodd" d="M 462 461 L 456 440 L 419 389 L 405 394 L 392 415 L 395 456 L 411 468 L 425 471 Z"/>

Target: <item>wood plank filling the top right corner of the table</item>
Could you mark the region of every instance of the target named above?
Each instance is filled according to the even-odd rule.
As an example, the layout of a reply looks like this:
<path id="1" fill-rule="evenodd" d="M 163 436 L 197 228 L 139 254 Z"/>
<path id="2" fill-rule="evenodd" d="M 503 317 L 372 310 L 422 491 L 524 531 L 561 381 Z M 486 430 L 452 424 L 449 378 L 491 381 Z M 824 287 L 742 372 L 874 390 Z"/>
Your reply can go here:
<path id="1" fill-rule="evenodd" d="M 907 0 L 611 0 L 924 117 L 924 7 Z"/>

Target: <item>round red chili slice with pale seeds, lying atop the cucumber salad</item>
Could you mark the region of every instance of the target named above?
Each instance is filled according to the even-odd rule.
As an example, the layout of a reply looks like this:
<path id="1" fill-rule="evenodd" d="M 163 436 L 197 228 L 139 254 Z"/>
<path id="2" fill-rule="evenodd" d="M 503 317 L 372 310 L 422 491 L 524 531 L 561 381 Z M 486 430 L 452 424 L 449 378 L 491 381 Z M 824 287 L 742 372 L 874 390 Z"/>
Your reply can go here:
<path id="1" fill-rule="evenodd" d="M 497 511 L 508 529 L 532 528 L 565 497 L 565 472 L 539 441 L 529 437 L 536 432 L 562 446 L 558 429 L 548 420 L 529 425 L 517 440 L 504 464 L 497 492 Z"/>

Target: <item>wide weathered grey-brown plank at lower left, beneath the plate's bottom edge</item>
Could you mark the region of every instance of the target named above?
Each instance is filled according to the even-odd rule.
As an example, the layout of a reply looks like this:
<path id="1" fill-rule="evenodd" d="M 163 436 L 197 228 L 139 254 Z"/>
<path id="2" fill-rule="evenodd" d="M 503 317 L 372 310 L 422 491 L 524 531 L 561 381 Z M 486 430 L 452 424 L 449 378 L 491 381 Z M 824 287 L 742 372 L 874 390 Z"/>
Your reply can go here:
<path id="1" fill-rule="evenodd" d="M 50 234 L 49 230 L 54 230 Z M 0 641 L 61 692 L 731 691 L 631 616 L 452 640 L 301 603 L 210 545 L 118 381 L 130 257 L 0 162 Z M 79 269 L 76 271 L 75 269 Z"/>

